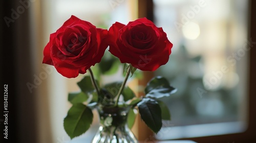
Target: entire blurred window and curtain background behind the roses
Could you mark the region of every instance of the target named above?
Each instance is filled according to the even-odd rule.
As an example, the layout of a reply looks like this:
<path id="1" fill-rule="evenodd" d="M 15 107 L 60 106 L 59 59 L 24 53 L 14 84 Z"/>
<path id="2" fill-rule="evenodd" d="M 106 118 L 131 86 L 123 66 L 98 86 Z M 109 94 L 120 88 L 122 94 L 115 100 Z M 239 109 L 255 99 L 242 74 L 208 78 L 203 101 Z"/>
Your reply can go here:
<path id="1" fill-rule="evenodd" d="M 95 118 L 87 133 L 70 140 L 63 129 L 63 118 L 71 107 L 67 96 L 68 92 L 79 90 L 76 82 L 83 75 L 67 79 L 53 66 L 42 64 L 42 51 L 49 35 L 71 15 L 104 29 L 109 29 L 115 21 L 127 24 L 147 17 L 162 27 L 174 44 L 166 65 L 154 73 L 143 72 L 143 79 L 131 84 L 138 96 L 143 96 L 138 87 L 161 75 L 178 88 L 171 98 L 163 99 L 172 121 L 164 121 L 160 132 L 153 134 L 138 117 L 133 132 L 139 140 L 236 143 L 256 140 L 253 134 L 256 12 L 252 9 L 255 2 L 20 0 L 1 3 L 1 82 L 8 84 L 8 141 L 90 142 L 97 131 Z M 1 106 L 4 106 L 3 99 L 0 99 Z M 3 107 L 0 110 L 3 113 L 2 110 Z M 3 121 L 1 116 L 1 132 Z"/>

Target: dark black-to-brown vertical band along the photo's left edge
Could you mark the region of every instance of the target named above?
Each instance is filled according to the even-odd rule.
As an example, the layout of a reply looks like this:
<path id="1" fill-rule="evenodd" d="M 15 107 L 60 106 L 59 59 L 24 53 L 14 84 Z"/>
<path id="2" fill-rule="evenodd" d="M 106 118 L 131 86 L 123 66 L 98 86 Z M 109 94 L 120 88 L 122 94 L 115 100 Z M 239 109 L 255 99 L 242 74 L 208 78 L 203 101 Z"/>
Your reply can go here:
<path id="1" fill-rule="evenodd" d="M 26 4 L 25 4 L 26 2 Z M 26 85 L 33 82 L 30 50 L 32 1 L 1 1 L 1 94 L 0 120 L 4 118 L 4 84 L 8 84 L 8 139 L 0 122 L 0 142 L 34 143 L 37 138 L 35 93 Z M 24 6 L 27 5 L 27 6 Z M 11 22 L 7 23 L 5 17 Z M 3 63 L 3 64 L 2 64 Z"/>

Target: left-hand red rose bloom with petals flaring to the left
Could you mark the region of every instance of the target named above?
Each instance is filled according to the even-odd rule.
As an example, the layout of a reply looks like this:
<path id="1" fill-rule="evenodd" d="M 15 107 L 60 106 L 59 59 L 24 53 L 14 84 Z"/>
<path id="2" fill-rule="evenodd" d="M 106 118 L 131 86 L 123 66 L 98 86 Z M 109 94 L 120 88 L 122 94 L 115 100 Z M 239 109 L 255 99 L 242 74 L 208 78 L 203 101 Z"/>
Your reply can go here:
<path id="1" fill-rule="evenodd" d="M 75 78 L 100 62 L 108 47 L 106 37 L 108 30 L 98 29 L 72 15 L 50 35 L 42 63 L 54 65 L 62 76 Z"/>

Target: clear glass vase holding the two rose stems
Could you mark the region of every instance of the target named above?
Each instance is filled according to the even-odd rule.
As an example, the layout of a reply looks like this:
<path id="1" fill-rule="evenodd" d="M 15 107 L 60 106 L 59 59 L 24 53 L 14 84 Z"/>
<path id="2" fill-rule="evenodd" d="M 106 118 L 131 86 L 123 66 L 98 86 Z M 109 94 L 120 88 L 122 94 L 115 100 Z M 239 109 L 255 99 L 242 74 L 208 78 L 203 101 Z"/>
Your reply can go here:
<path id="1" fill-rule="evenodd" d="M 97 110 L 100 117 L 100 127 L 91 143 L 138 142 L 127 126 L 127 115 L 130 107 L 103 106 L 97 107 Z"/>

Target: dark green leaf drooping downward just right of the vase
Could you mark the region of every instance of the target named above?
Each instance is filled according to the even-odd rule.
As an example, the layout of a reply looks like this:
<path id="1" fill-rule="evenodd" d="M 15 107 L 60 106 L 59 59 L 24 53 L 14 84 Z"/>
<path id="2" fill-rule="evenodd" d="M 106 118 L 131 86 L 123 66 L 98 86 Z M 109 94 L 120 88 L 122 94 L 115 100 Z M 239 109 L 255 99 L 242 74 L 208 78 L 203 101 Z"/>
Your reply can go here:
<path id="1" fill-rule="evenodd" d="M 145 124 L 155 133 L 162 127 L 161 108 L 154 99 L 144 98 L 138 104 L 140 116 Z"/>

